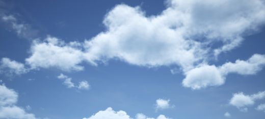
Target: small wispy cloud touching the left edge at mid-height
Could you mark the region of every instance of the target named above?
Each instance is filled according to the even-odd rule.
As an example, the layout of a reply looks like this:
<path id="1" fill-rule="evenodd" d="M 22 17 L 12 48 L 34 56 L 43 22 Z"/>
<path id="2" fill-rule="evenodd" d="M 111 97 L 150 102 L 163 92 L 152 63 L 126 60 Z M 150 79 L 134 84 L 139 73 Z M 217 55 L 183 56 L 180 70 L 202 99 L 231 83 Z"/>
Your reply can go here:
<path id="1" fill-rule="evenodd" d="M 28 69 L 24 64 L 12 61 L 9 58 L 2 58 L 0 62 L 0 73 L 8 76 L 21 75 L 28 73 Z"/>

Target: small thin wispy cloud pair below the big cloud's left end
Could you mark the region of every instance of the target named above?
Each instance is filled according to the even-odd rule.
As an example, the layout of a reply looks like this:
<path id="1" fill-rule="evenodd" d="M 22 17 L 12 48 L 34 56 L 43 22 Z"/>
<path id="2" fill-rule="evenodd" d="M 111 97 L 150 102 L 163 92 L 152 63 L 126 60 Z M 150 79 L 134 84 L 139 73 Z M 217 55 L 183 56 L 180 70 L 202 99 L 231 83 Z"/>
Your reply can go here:
<path id="1" fill-rule="evenodd" d="M 58 77 L 58 79 L 63 79 L 64 82 L 63 84 L 67 87 L 67 88 L 77 88 L 77 89 L 85 89 L 88 90 L 90 85 L 87 81 L 81 81 L 79 82 L 79 85 L 75 86 L 75 84 L 72 82 L 72 78 L 69 78 L 68 76 L 64 75 L 64 74 L 60 74 Z"/>

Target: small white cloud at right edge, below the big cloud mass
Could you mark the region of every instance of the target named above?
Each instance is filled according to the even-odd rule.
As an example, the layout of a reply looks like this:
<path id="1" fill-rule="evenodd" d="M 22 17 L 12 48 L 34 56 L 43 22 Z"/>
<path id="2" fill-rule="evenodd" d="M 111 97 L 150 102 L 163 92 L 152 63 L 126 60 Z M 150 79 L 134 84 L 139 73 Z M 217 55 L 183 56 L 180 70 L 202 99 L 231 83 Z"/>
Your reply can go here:
<path id="1" fill-rule="evenodd" d="M 246 95 L 243 92 L 234 93 L 233 97 L 230 99 L 229 104 L 235 106 L 243 112 L 247 112 L 247 106 L 252 106 L 255 104 L 256 100 L 261 100 L 265 98 L 265 91 L 260 91 L 252 95 Z"/>

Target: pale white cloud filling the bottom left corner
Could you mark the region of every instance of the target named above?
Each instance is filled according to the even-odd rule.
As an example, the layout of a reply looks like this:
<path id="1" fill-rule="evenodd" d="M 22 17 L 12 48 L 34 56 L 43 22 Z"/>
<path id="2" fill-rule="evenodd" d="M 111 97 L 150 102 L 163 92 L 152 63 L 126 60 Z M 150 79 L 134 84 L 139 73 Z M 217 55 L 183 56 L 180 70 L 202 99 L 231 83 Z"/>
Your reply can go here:
<path id="1" fill-rule="evenodd" d="M 16 106 L 17 98 L 18 94 L 14 90 L 0 85 L 0 118 L 36 119 L 34 114 Z"/>

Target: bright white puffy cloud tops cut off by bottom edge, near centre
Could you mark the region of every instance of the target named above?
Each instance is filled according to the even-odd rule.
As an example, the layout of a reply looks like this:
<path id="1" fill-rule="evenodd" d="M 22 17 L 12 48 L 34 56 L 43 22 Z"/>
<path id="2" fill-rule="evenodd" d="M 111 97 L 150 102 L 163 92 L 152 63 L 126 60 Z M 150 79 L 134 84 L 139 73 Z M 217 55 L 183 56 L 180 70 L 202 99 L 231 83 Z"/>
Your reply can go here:
<path id="1" fill-rule="evenodd" d="M 83 119 L 133 119 L 125 111 L 114 111 L 111 107 L 104 111 L 98 111 L 96 114 Z M 136 119 L 155 119 L 146 117 L 144 114 L 137 114 Z M 159 115 L 156 119 L 169 119 L 165 115 Z"/>

